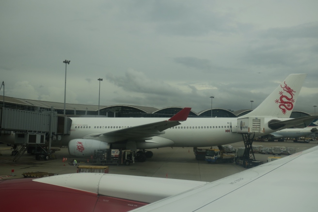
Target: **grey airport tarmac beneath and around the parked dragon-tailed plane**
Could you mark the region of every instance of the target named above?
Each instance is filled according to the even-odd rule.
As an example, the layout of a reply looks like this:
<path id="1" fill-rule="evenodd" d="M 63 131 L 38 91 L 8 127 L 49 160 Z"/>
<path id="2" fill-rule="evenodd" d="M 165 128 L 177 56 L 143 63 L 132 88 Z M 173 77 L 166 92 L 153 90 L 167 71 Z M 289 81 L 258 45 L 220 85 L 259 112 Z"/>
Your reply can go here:
<path id="1" fill-rule="evenodd" d="M 238 142 L 232 145 L 234 148 L 244 147 L 243 142 Z M 309 144 L 286 142 L 256 142 L 253 145 L 262 145 L 264 147 L 294 147 L 296 152 L 317 146 L 317 141 Z M 217 148 L 217 147 L 215 147 Z M 189 179 L 198 181 L 214 181 L 224 177 L 236 174 L 246 170 L 242 166 L 235 163 L 219 163 L 211 164 L 206 161 L 198 161 L 193 154 L 191 147 L 166 147 L 152 149 L 154 155 L 147 159 L 144 163 L 135 162 L 129 166 L 110 164 L 110 174 L 135 175 L 157 178 L 172 178 L 172 179 Z M 55 153 L 55 160 L 40 160 L 36 161 L 34 155 L 25 153 L 18 162 L 12 162 L 12 149 L 6 144 L 0 144 L 0 179 L 17 179 L 23 178 L 23 172 L 48 172 L 58 175 L 76 173 L 77 167 L 68 165 L 72 159 L 76 159 L 78 164 L 92 165 L 87 163 L 87 158 L 74 158 L 68 154 L 67 147 L 62 147 L 61 151 Z M 267 158 L 272 155 L 255 153 L 256 160 L 266 163 Z M 278 157 L 286 157 L 281 155 Z M 67 158 L 64 163 L 63 158 Z M 65 165 L 64 165 L 65 164 Z M 93 164 L 94 165 L 94 164 Z M 12 175 L 14 170 L 14 175 Z"/>

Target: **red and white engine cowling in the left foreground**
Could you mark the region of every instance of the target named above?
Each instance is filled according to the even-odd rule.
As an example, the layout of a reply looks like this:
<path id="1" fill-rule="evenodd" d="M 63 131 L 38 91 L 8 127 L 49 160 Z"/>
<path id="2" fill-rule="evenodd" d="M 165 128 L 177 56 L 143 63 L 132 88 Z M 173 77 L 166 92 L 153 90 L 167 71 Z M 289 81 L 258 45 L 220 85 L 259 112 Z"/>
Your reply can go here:
<path id="1" fill-rule="evenodd" d="M 0 208 L 13 212 L 127 212 L 205 184 L 100 173 L 0 180 Z"/>

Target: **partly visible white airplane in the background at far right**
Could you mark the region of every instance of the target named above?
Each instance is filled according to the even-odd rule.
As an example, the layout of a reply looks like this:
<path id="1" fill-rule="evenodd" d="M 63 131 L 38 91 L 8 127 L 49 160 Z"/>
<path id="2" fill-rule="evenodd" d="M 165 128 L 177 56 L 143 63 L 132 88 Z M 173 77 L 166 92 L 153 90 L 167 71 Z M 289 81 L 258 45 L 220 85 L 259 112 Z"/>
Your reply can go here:
<path id="1" fill-rule="evenodd" d="M 278 130 L 264 137 L 269 137 L 271 140 L 282 139 L 282 138 L 304 137 L 304 136 L 308 136 L 310 134 L 317 132 L 318 130 L 317 128 L 318 128 L 318 119 L 315 119 L 310 125 L 308 125 L 305 128 L 290 128 L 290 129 Z"/>

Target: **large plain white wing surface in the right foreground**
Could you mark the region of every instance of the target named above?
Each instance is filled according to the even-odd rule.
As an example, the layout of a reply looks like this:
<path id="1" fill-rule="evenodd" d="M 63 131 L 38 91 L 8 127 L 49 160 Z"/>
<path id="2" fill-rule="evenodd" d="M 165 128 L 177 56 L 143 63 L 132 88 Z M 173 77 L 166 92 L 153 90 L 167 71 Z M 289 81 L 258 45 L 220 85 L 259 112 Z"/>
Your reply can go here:
<path id="1" fill-rule="evenodd" d="M 133 212 L 316 212 L 318 147 L 265 163 Z"/>

